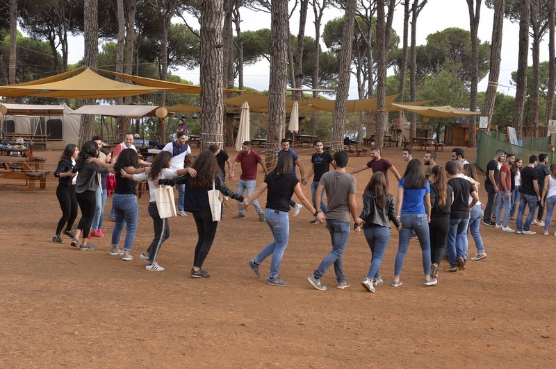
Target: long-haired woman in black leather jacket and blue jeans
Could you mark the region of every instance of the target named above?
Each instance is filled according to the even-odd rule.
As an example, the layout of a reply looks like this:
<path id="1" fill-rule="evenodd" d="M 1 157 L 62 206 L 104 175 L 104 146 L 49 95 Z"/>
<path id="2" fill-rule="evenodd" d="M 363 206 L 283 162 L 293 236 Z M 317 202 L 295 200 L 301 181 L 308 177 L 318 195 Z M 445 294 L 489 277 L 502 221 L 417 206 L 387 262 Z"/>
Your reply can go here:
<path id="1" fill-rule="evenodd" d="M 386 252 L 386 246 L 390 239 L 390 222 L 392 221 L 398 231 L 402 230 L 400 220 L 395 216 L 394 196 L 388 193 L 386 177 L 382 172 L 375 172 L 370 178 L 365 192 L 363 193 L 363 210 L 355 220 L 357 225 L 363 225 L 365 239 L 370 247 L 369 273 L 361 282 L 369 292 L 375 292 L 375 286 L 382 285 L 380 277 L 380 264 Z M 356 231 L 359 232 L 357 227 Z"/>

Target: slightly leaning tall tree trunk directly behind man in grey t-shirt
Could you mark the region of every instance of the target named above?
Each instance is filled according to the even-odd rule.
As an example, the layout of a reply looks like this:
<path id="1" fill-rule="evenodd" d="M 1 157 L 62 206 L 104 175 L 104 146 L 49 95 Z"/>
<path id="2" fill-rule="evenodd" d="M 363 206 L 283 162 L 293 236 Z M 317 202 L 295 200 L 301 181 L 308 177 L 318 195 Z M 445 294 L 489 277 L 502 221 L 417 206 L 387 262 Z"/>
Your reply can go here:
<path id="1" fill-rule="evenodd" d="M 336 89 L 336 105 L 332 122 L 332 150 L 343 150 L 343 132 L 345 128 L 345 112 L 347 110 L 347 94 L 350 89 L 353 27 L 355 23 L 356 0 L 345 1 L 344 27 L 342 33 L 342 51 L 340 55 L 338 88 Z"/>

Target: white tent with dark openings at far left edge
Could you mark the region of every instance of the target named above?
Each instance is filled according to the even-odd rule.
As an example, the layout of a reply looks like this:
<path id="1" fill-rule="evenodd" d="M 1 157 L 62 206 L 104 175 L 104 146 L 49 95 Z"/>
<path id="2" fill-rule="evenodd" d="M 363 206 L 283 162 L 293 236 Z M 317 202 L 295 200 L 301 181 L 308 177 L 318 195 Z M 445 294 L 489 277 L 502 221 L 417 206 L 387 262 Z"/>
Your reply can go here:
<path id="1" fill-rule="evenodd" d="M 72 115 L 67 105 L 2 105 L 8 110 L 2 120 L 2 133 L 48 135 L 47 148 L 51 149 L 79 141 L 81 117 Z"/>

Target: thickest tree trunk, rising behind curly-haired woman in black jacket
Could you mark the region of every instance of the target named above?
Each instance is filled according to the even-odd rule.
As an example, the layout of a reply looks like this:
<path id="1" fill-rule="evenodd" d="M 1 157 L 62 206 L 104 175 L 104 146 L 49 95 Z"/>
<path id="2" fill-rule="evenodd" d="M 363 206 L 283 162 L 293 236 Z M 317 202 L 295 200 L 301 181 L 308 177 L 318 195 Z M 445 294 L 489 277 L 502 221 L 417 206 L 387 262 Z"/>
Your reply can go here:
<path id="1" fill-rule="evenodd" d="M 224 60 L 222 52 L 223 0 L 202 1 L 201 6 L 201 146 L 222 147 Z"/>

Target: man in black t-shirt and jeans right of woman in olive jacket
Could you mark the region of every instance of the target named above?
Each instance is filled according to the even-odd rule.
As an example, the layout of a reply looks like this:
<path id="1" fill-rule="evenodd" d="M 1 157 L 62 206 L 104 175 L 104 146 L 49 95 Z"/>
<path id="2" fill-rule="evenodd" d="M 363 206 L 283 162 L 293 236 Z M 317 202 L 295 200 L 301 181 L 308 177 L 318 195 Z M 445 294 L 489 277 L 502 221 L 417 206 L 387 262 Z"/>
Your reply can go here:
<path id="1" fill-rule="evenodd" d="M 464 271 L 466 268 L 469 210 L 473 209 L 479 196 L 471 182 L 461 178 L 455 162 L 447 162 L 444 168 L 448 175 L 448 184 L 454 191 L 454 201 L 450 207 L 450 229 L 446 241 L 450 266 L 444 271 L 457 273 L 458 270 Z M 469 203 L 469 196 L 472 198 L 471 203 Z"/>

